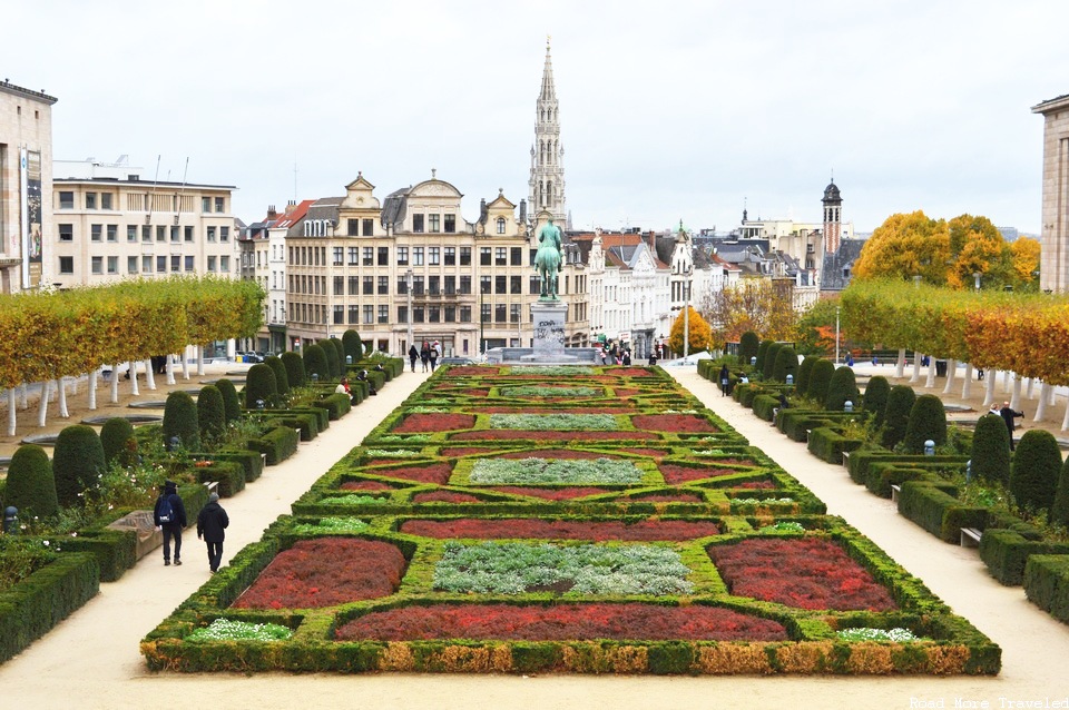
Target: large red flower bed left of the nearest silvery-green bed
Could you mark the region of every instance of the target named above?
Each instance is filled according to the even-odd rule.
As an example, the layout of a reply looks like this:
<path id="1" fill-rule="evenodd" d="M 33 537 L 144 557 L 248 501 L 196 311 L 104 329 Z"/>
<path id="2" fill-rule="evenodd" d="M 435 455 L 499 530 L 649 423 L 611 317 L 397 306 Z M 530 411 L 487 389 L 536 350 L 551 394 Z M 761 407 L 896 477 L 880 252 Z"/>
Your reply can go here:
<path id="1" fill-rule="evenodd" d="M 310 609 L 389 596 L 401 585 L 404 555 L 394 545 L 353 538 L 298 540 L 279 552 L 237 609 Z"/>

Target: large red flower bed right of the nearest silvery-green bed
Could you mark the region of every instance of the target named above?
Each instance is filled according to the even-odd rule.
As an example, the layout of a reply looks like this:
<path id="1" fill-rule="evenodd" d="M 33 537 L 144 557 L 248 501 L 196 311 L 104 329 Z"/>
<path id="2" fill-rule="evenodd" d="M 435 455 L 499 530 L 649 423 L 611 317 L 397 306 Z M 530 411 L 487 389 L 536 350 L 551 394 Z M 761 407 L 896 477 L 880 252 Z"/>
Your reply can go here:
<path id="1" fill-rule="evenodd" d="M 738 596 L 797 609 L 898 609 L 887 590 L 828 540 L 752 538 L 733 545 L 710 545 L 707 552 Z"/>

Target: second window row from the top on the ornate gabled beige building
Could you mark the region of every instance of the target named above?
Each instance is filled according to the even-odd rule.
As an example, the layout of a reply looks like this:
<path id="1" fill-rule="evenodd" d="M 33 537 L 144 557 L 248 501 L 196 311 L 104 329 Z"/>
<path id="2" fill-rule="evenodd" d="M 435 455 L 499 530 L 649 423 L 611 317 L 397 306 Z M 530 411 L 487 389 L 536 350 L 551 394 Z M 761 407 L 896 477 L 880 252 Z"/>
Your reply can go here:
<path id="1" fill-rule="evenodd" d="M 210 227 L 209 227 L 210 229 Z M 294 266 L 327 266 L 326 247 L 288 247 Z M 395 247 L 398 266 L 471 266 L 472 247 Z M 534 249 L 528 266 L 534 265 Z M 411 263 L 410 256 L 411 254 Z M 458 258 L 459 257 L 459 258 Z M 332 247 L 332 266 L 389 266 L 390 247 Z M 523 266 L 523 247 L 479 247 L 480 266 Z"/>

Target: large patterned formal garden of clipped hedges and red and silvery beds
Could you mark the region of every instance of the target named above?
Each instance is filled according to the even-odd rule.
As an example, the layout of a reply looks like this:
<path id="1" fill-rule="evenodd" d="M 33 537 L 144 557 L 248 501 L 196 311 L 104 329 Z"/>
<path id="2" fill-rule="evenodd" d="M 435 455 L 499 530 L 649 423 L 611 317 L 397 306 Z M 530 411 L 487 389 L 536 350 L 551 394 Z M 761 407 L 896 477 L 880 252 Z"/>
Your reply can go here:
<path id="1" fill-rule="evenodd" d="M 996 674 L 657 367 L 447 366 L 141 642 L 171 671 Z"/>

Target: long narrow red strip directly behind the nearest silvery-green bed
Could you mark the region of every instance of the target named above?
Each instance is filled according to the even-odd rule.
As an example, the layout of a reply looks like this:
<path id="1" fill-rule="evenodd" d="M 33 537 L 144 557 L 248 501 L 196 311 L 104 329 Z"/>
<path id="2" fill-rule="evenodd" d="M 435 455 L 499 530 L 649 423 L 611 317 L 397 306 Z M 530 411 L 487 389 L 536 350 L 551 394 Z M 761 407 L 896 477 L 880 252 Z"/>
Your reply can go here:
<path id="1" fill-rule="evenodd" d="M 423 538 L 449 540 L 452 538 L 472 538 L 478 540 L 500 540 L 503 538 L 523 538 L 540 540 L 622 540 L 626 542 L 648 542 L 654 540 L 694 540 L 720 534 L 710 522 L 685 520 L 643 520 L 630 525 L 619 521 L 561 521 L 537 517 L 514 517 L 510 520 L 473 519 L 437 521 L 409 520 L 401 525 L 401 532 Z"/>

